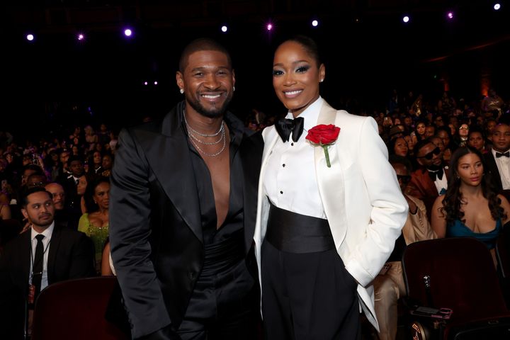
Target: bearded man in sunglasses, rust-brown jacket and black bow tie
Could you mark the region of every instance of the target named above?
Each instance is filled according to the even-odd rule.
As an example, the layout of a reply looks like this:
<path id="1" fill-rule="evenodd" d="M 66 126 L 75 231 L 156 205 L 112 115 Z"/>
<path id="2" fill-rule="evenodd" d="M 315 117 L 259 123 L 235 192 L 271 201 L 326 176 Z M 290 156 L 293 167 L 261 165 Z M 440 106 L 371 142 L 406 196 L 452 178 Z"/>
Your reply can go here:
<path id="1" fill-rule="evenodd" d="M 448 166 L 443 166 L 443 152 L 431 140 L 421 140 L 415 149 L 419 169 L 411 174 L 405 193 L 424 201 L 430 219 L 434 201 L 448 188 Z"/>

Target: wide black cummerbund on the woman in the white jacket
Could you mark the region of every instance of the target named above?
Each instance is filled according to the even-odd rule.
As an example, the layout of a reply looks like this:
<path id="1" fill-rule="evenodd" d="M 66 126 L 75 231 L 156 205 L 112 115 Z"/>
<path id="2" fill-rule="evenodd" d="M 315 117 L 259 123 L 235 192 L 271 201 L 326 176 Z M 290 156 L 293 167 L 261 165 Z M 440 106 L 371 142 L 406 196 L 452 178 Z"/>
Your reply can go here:
<path id="1" fill-rule="evenodd" d="M 276 249 L 304 254 L 335 248 L 327 220 L 297 214 L 270 204 L 266 240 Z"/>

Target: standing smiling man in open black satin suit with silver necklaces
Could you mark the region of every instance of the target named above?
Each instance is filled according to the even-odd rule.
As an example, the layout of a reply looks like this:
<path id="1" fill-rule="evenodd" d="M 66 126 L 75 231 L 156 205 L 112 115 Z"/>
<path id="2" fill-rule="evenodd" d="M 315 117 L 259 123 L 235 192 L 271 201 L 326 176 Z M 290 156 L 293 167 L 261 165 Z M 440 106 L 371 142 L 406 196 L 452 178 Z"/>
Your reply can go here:
<path id="1" fill-rule="evenodd" d="M 235 77 L 225 47 L 191 42 L 176 81 L 186 100 L 123 130 L 111 174 L 111 256 L 132 336 L 255 339 L 261 135 L 227 111 Z"/>

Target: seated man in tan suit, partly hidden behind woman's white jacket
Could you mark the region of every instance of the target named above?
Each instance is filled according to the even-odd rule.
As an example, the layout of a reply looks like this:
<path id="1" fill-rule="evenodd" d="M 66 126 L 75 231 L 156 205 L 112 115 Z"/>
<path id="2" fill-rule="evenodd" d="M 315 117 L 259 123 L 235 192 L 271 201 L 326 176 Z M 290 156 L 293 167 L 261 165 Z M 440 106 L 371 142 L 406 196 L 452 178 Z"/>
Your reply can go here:
<path id="1" fill-rule="evenodd" d="M 404 276 L 402 275 L 402 254 L 407 244 L 436 239 L 437 235 L 426 217 L 426 208 L 422 200 L 407 195 L 406 188 L 411 181 L 411 164 L 405 157 L 390 156 L 390 164 L 395 169 L 400 189 L 409 205 L 407 220 L 402 234 L 395 242 L 395 248 L 385 266 L 374 280 L 375 314 L 379 322 L 379 339 L 392 340 L 397 337 L 397 302 L 406 295 Z"/>

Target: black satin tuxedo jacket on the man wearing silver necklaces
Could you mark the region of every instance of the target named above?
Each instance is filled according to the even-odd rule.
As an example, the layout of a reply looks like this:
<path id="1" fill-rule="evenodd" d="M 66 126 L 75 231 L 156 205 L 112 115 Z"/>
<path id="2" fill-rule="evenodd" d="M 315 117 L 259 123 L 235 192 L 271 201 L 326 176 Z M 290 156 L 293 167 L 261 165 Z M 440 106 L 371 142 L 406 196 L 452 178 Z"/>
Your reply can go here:
<path id="1" fill-rule="evenodd" d="M 178 328 L 203 266 L 196 179 L 179 103 L 163 120 L 125 129 L 111 174 L 110 242 L 132 336 Z M 229 128 L 247 130 L 227 113 Z M 263 141 L 243 135 L 246 254 L 251 254 Z M 250 251 L 251 250 L 251 251 Z M 247 256 L 251 258 L 251 256 Z"/>

